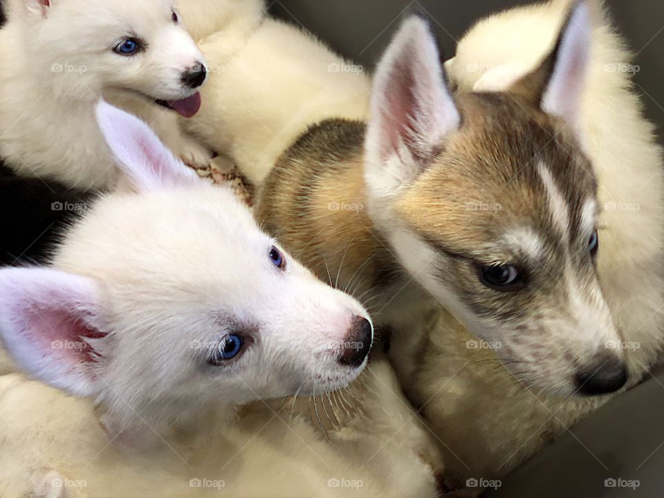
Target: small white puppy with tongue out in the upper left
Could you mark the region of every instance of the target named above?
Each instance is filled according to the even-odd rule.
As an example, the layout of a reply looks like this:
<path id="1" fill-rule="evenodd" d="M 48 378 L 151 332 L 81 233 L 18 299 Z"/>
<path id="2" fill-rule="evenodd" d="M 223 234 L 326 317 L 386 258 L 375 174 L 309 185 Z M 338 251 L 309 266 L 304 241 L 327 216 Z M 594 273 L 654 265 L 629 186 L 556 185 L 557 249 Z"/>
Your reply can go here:
<path id="1" fill-rule="evenodd" d="M 159 120 L 176 155 L 200 156 L 164 107 L 192 116 L 206 77 L 173 0 L 10 0 L 0 30 L 0 159 L 19 174 L 111 187 L 118 170 L 95 124 L 100 95 Z"/>

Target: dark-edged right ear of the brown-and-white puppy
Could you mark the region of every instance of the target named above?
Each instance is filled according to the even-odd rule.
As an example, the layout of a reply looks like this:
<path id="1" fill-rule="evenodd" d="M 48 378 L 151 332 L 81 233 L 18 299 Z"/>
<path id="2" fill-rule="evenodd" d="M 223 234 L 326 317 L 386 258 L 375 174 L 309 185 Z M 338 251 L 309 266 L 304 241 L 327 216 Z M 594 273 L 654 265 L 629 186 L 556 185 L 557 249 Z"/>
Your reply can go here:
<path id="1" fill-rule="evenodd" d="M 511 88 L 546 113 L 573 122 L 590 63 L 591 22 L 587 0 L 571 8 L 553 51 L 540 66 Z"/>

